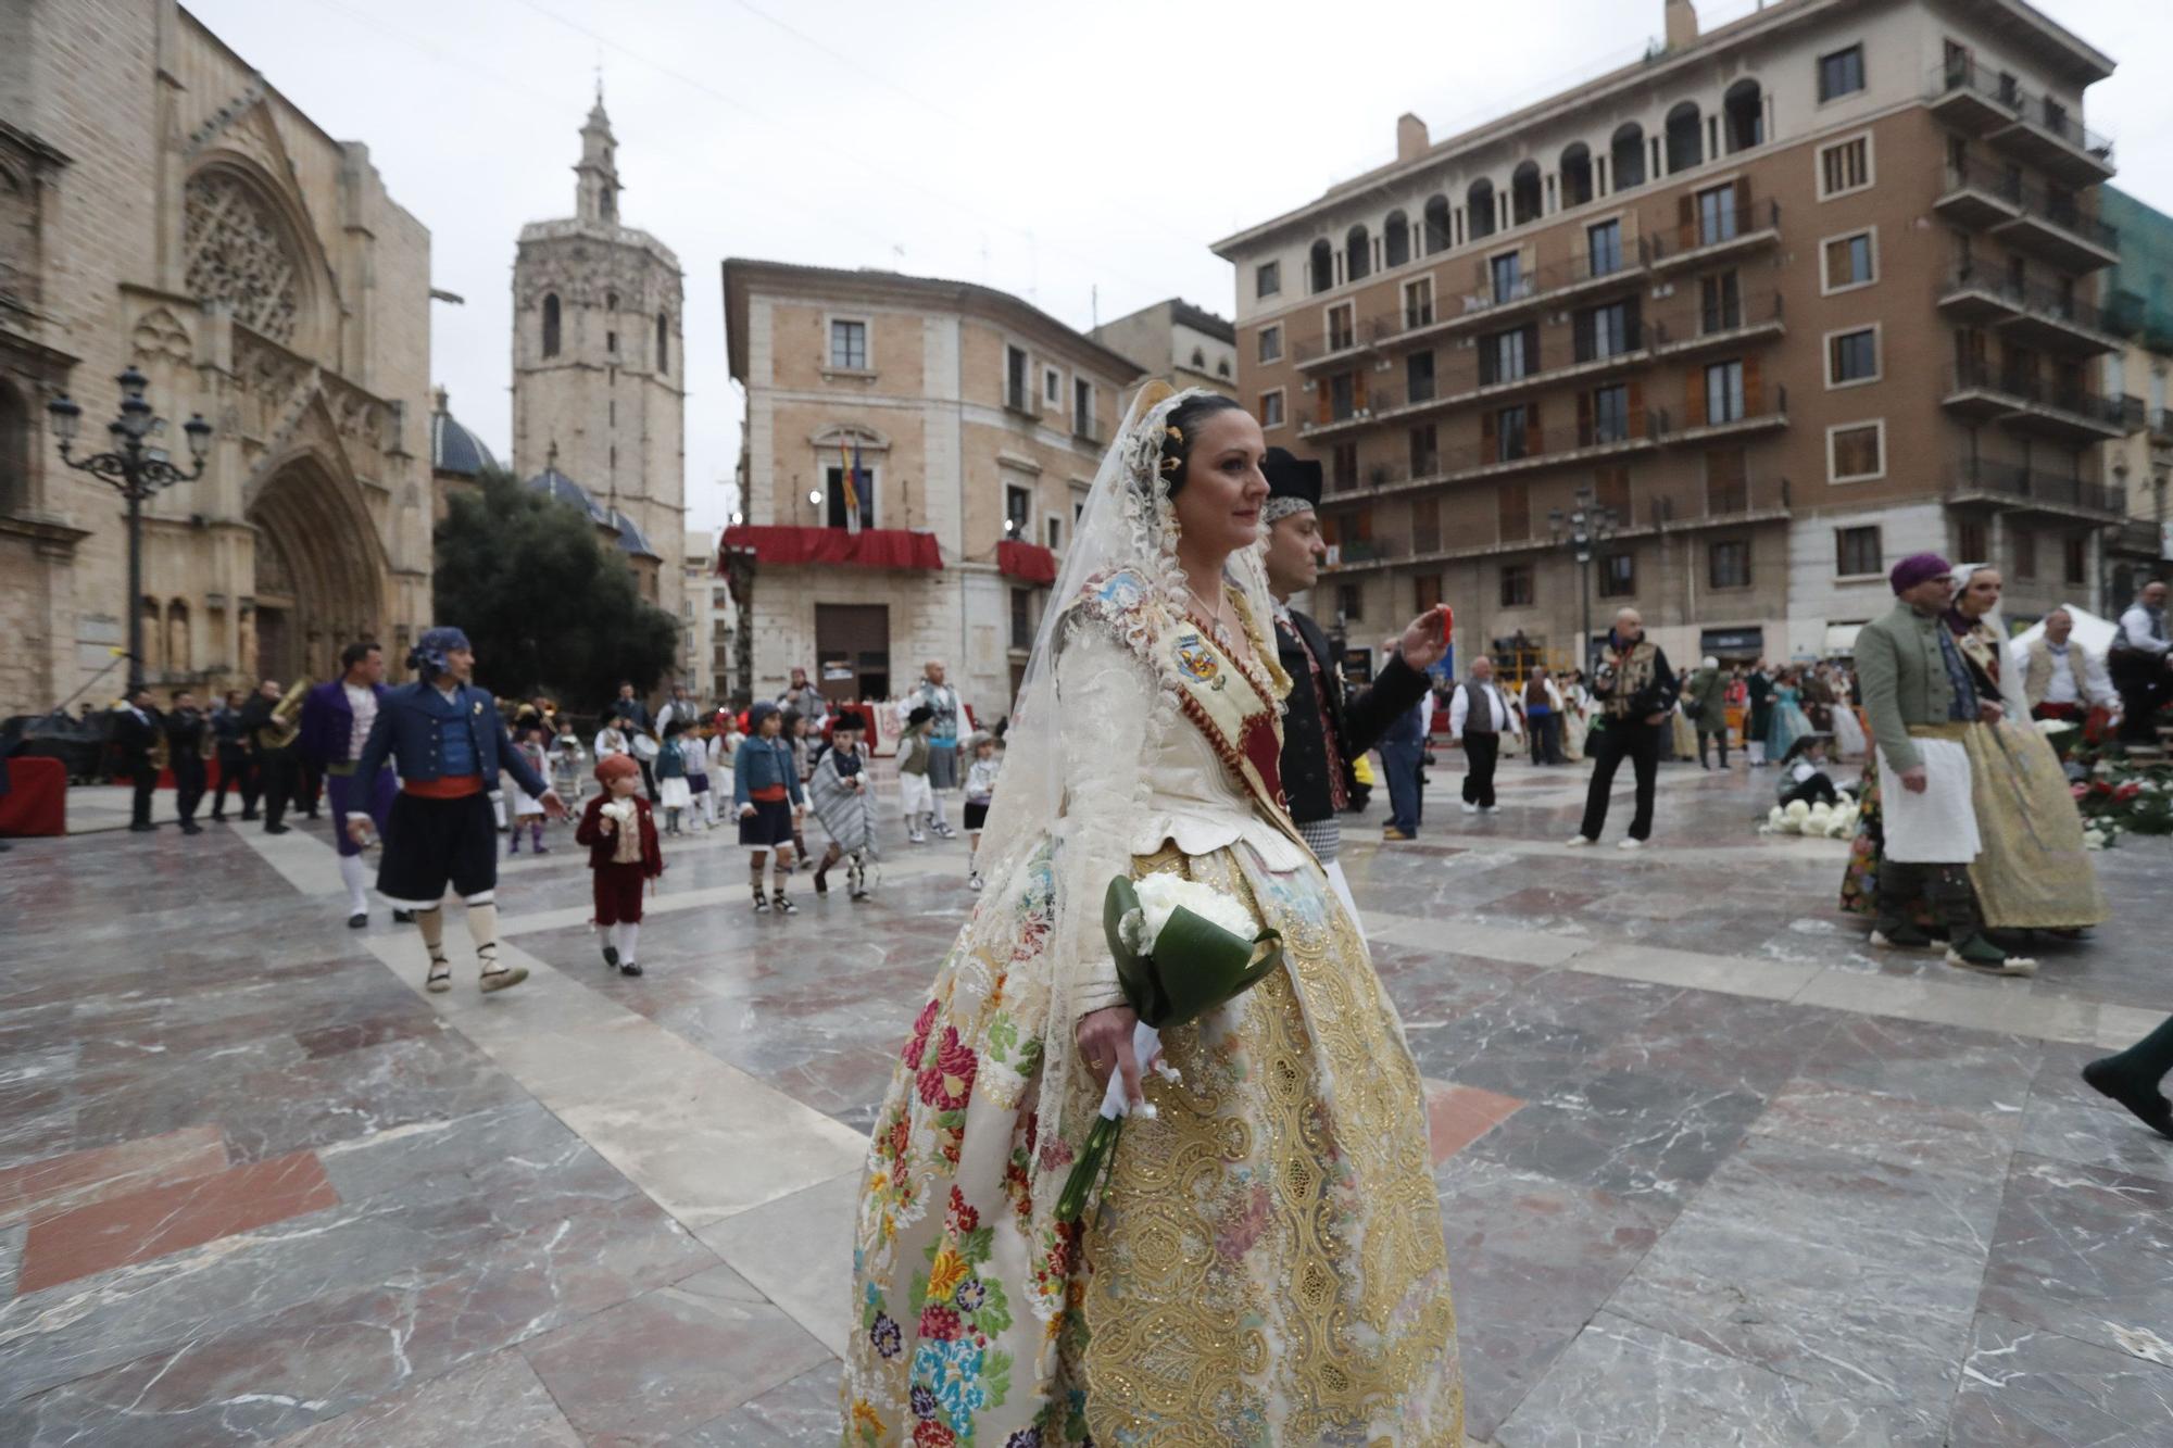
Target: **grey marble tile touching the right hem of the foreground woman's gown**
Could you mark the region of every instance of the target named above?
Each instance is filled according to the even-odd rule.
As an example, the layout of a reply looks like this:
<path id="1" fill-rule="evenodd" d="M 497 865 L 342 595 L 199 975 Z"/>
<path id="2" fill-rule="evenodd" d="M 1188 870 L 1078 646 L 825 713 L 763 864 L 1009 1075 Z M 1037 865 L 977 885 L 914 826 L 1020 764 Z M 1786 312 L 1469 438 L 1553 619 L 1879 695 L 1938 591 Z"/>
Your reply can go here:
<path id="1" fill-rule="evenodd" d="M 1471 1152 L 1439 1172 L 1465 1365 L 1465 1431 L 1491 1437 L 1651 1250 L 1662 1202 L 1619 1198 Z"/>

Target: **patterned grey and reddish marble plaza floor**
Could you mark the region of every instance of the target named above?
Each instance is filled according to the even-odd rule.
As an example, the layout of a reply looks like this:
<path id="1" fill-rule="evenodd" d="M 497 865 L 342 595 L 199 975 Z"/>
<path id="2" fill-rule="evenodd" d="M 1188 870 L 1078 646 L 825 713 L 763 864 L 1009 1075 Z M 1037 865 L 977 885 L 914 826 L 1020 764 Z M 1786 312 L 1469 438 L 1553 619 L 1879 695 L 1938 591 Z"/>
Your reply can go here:
<path id="1" fill-rule="evenodd" d="M 2034 981 L 1864 948 L 1771 774 L 1434 772 L 1345 863 L 1428 1076 L 1469 1431 L 1554 1444 L 2173 1444 L 2173 1144 L 2075 1068 L 2173 1011 L 2173 841 Z M 1628 783 L 1628 774 L 1625 774 Z M 169 796 L 161 811 L 169 813 Z M 1628 820 L 1617 800 L 1610 839 Z M 863 1133 L 974 896 L 756 918 L 667 841 L 600 963 L 567 833 L 502 881 L 535 974 L 422 991 L 328 824 L 0 857 L 0 1444 L 821 1444 Z"/>

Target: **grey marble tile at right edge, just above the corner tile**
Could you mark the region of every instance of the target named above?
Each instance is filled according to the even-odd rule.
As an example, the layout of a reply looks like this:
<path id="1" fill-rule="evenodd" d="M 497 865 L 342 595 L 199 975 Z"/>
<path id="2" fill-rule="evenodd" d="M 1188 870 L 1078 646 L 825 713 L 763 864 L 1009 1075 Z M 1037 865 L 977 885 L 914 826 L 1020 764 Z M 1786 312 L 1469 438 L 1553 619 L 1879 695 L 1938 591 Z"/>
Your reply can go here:
<path id="1" fill-rule="evenodd" d="M 2017 1154 L 1982 1305 L 2173 1363 L 2173 1185 Z"/>

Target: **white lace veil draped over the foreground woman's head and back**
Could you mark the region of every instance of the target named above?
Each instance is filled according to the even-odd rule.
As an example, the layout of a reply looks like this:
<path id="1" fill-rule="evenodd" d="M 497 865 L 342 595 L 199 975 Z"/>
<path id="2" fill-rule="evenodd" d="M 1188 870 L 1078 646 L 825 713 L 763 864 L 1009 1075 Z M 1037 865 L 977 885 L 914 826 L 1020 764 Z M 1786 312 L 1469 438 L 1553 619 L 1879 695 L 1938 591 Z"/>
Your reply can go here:
<path id="1" fill-rule="evenodd" d="M 1063 667 L 1067 654 L 1108 650 L 1110 635 L 1100 624 L 1078 615 L 1076 604 L 1110 574 L 1130 572 L 1145 585 L 1141 607 L 1130 613 L 1134 628 L 1158 633 L 1184 617 L 1186 581 L 1178 567 L 1178 515 L 1169 500 L 1169 483 L 1160 470 L 1163 437 L 1169 415 L 1189 398 L 1213 396 L 1204 389 L 1173 394 L 1150 383 L 1117 433 L 1102 467 L 1095 472 L 1086 507 L 1071 533 L 1056 587 L 1034 635 L 1026 676 L 1013 704 L 1004 735 L 1004 772 L 989 807 L 982 833 L 982 854 L 991 861 L 991 881 L 1008 878 L 1023 857 L 1043 839 L 1056 839 L 1052 854 L 1054 924 L 1050 950 L 1050 1024 L 1043 1057 L 1041 1113 L 1043 1131 L 1058 1131 L 1063 1109 L 1071 1028 L 1080 1013 L 1078 983 L 1086 965 L 1106 954 L 1102 944 L 1102 891 L 1108 881 L 1108 852 L 1078 848 L 1067 837 L 1091 815 L 1095 820 L 1136 820 L 1147 813 L 1147 765 L 1163 750 L 1171 728 L 1191 728 L 1180 720 L 1178 694 L 1171 681 L 1152 676 L 1145 663 L 1130 659 L 1100 663 L 1095 683 L 1086 670 Z M 1245 626 L 1254 648 L 1273 657 L 1267 637 L 1271 600 L 1265 539 L 1230 554 L 1223 583 L 1243 604 Z M 1102 687 L 1119 667 L 1126 687 Z M 1067 689 L 1067 681 L 1071 687 Z M 1136 687 L 1130 687 L 1136 683 Z M 1110 798 L 1130 791 L 1126 798 Z"/>

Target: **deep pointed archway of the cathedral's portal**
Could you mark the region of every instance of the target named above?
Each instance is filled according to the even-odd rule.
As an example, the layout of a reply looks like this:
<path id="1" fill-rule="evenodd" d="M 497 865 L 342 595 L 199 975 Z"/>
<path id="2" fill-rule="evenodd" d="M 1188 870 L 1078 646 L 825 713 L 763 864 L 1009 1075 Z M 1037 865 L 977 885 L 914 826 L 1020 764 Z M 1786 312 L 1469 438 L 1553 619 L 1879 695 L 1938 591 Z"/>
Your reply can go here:
<path id="1" fill-rule="evenodd" d="M 385 637 L 382 546 L 352 485 L 302 454 L 256 489 L 256 676 L 332 676 L 339 650 Z"/>

